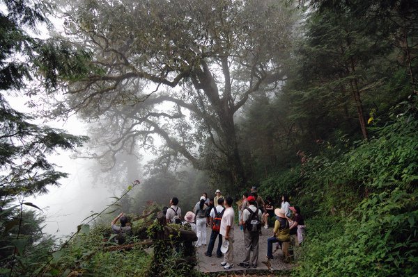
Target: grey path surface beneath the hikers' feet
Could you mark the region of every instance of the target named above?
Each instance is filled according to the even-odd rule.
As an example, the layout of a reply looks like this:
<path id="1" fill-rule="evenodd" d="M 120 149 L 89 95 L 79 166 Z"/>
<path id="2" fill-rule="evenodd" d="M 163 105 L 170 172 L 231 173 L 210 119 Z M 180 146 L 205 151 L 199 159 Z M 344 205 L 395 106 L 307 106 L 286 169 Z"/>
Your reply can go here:
<path id="1" fill-rule="evenodd" d="M 207 228 L 207 243 L 210 239 L 210 228 Z M 267 239 L 272 236 L 272 228 L 262 228 L 262 235 L 258 243 L 258 265 L 256 269 L 245 269 L 245 267 L 240 267 L 239 264 L 244 259 L 244 235 L 240 230 L 239 226 L 235 226 L 234 229 L 234 243 L 233 243 L 233 263 L 234 267 L 232 269 L 224 269 L 220 264 L 223 261 L 223 258 L 217 258 L 216 256 L 216 247 L 217 241 L 215 242 L 215 249 L 212 251 L 212 257 L 207 257 L 204 255 L 208 246 L 201 246 L 196 249 L 196 256 L 199 260 L 199 271 L 201 272 L 219 272 L 219 271 L 244 271 L 245 273 L 255 273 L 256 271 L 288 271 L 292 268 L 293 265 L 286 264 L 281 260 L 281 250 L 274 251 L 273 260 L 268 260 L 265 258 L 267 254 Z M 273 245 L 275 249 L 275 245 Z M 252 253 L 251 253 L 252 257 Z"/>

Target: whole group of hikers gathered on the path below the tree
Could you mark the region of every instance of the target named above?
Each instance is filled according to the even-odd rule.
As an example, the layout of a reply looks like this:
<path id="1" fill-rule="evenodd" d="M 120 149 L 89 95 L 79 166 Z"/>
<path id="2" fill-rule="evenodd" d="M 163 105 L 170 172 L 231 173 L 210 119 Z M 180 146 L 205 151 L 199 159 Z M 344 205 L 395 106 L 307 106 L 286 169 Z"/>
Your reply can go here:
<path id="1" fill-rule="evenodd" d="M 216 190 L 215 196 L 208 198 L 206 192 L 194 205 L 192 211 L 186 212 L 184 220 L 178 205 L 178 198 L 170 200 L 169 207 L 164 208 L 167 223 L 188 225 L 196 233 L 196 247 L 207 246 L 205 255 L 212 256 L 212 251 L 217 242 L 216 256 L 222 258 L 220 263 L 224 269 L 234 267 L 233 262 L 233 235 L 235 228 L 235 210 L 233 209 L 233 199 L 231 196 L 222 196 L 220 190 Z M 274 208 L 274 201 L 271 197 L 263 198 L 258 195 L 257 187 L 251 187 L 251 192 L 244 192 L 242 199 L 237 201 L 238 205 L 238 226 L 243 232 L 245 256 L 241 267 L 256 268 L 258 265 L 258 239 L 261 235 L 261 228 L 269 228 L 269 221 L 274 221 L 272 237 L 268 238 L 268 248 L 266 258 L 273 259 L 273 244 L 277 243 L 277 248 L 282 247 L 283 242 L 290 242 L 291 235 L 297 237 L 297 244 L 301 244 L 304 239 L 304 219 L 298 206 L 291 206 L 286 194 L 281 196 L 280 208 Z M 121 221 L 121 226 L 116 222 Z M 210 239 L 207 244 L 207 227 L 211 228 Z M 114 233 L 121 233 L 130 230 L 127 224 L 127 217 L 121 214 L 111 222 Z M 282 247 L 286 255 L 286 250 Z M 251 256 L 252 252 L 252 256 Z"/>

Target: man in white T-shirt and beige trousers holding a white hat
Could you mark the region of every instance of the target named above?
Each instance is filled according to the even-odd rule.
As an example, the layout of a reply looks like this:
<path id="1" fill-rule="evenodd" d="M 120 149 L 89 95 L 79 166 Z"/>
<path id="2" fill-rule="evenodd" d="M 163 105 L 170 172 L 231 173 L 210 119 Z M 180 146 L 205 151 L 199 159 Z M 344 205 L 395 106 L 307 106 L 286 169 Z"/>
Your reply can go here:
<path id="1" fill-rule="evenodd" d="M 224 202 L 225 212 L 221 220 L 221 228 L 219 233 L 229 242 L 228 250 L 224 253 L 224 261 L 221 262 L 224 269 L 233 268 L 233 228 L 235 212 L 232 208 L 233 199 L 231 196 L 227 196 Z"/>

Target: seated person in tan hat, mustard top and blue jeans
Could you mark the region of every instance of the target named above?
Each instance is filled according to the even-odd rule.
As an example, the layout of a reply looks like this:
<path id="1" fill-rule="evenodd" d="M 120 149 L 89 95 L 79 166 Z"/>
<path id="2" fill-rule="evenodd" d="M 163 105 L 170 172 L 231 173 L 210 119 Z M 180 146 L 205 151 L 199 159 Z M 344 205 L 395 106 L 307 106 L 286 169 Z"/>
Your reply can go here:
<path id="1" fill-rule="evenodd" d="M 289 231 L 289 222 L 286 219 L 284 209 L 277 208 L 274 210 L 274 214 L 277 215 L 277 219 L 274 222 L 274 234 L 272 237 L 269 237 L 267 240 L 267 255 L 268 259 L 273 258 L 273 243 L 279 242 L 280 246 L 282 242 L 289 242 L 291 240 L 291 235 Z M 284 253 L 287 256 L 288 253 Z"/>

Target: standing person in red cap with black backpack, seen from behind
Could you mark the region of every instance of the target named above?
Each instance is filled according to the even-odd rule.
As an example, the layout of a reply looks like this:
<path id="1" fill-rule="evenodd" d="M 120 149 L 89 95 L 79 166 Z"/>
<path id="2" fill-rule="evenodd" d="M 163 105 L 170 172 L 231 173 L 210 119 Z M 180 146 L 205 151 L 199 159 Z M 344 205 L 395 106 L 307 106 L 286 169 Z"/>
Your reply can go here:
<path id="1" fill-rule="evenodd" d="M 249 207 L 242 212 L 242 221 L 244 222 L 245 257 L 244 261 L 240 263 L 240 266 L 249 269 L 251 265 L 254 268 L 257 267 L 258 239 L 260 237 L 259 229 L 261 228 L 261 210 L 256 207 L 257 203 L 254 196 L 248 196 L 247 201 L 249 203 Z M 254 215 L 254 217 L 252 215 Z M 248 219 L 251 221 L 257 221 L 257 223 L 249 222 Z M 253 256 L 250 259 L 251 249 L 253 251 Z"/>

